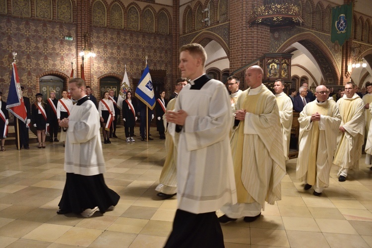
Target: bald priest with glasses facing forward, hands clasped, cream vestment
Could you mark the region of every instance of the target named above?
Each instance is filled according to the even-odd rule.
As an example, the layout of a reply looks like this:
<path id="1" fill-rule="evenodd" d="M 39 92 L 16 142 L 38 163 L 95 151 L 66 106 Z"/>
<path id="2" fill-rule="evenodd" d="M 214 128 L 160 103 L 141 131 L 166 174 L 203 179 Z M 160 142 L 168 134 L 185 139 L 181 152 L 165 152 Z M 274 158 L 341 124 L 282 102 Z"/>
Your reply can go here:
<path id="1" fill-rule="evenodd" d="M 316 99 L 300 113 L 299 155 L 297 178 L 305 181 L 305 190 L 313 186 L 319 196 L 329 186 L 329 172 L 337 145 L 341 116 L 335 101 L 329 100 L 324 85 L 315 89 Z"/>

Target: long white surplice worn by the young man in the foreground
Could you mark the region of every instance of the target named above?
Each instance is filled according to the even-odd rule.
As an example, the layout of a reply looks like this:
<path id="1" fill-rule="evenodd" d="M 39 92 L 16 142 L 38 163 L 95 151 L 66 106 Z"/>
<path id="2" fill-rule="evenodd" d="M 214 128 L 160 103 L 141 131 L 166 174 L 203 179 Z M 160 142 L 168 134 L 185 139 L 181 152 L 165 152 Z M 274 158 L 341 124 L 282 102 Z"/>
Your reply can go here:
<path id="1" fill-rule="evenodd" d="M 236 203 L 229 142 L 233 116 L 228 91 L 220 81 L 210 79 L 200 90 L 190 88 L 188 84 L 182 89 L 175 106 L 175 111 L 187 113 L 185 125 L 176 132 L 170 123 L 168 131 L 178 150 L 178 208 L 199 214 Z"/>

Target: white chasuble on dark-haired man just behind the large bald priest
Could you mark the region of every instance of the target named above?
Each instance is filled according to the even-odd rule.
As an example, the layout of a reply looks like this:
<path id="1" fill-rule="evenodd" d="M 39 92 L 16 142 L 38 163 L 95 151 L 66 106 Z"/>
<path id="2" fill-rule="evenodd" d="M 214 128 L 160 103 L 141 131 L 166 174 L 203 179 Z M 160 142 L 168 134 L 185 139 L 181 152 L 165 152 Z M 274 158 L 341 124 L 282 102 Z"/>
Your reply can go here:
<path id="1" fill-rule="evenodd" d="M 276 94 L 275 99 L 279 108 L 280 124 L 282 125 L 284 156 L 286 157 L 286 160 L 288 160 L 289 141 L 291 139 L 293 119 L 293 103 L 291 98 L 284 92 Z"/>

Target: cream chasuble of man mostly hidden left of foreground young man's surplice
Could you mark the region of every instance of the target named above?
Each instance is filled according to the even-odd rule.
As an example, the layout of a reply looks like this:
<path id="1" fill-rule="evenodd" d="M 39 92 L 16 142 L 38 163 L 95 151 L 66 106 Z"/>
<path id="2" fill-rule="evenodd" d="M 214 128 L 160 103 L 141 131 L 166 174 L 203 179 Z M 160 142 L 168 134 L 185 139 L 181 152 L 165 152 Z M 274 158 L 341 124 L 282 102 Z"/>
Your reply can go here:
<path id="1" fill-rule="evenodd" d="M 169 101 L 166 110 L 173 110 L 176 105 L 176 99 Z M 165 194 L 177 193 L 177 170 L 175 161 L 177 161 L 177 149 L 174 147 L 172 135 L 167 128 L 167 120 L 163 116 L 165 126 L 165 151 L 167 153 L 162 172 L 159 178 L 159 185 L 155 188 L 156 191 Z"/>

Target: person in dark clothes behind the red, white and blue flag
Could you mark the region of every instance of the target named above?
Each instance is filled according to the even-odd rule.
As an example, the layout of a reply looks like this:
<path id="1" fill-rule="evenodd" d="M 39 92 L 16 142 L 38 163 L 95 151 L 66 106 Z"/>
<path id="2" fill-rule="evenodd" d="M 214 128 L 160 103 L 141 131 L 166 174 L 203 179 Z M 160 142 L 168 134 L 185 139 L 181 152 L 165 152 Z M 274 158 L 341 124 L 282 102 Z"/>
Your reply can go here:
<path id="1" fill-rule="evenodd" d="M 22 93 L 24 91 L 24 87 L 21 86 Z M 29 147 L 29 137 L 28 137 L 28 130 L 30 128 L 30 122 L 31 122 L 31 104 L 30 104 L 30 98 L 23 97 L 24 106 L 26 107 L 27 112 L 27 122 L 26 124 L 23 123 L 18 118 L 15 118 L 14 121 L 14 130 L 15 130 L 15 146 L 18 150 L 20 150 L 22 147 L 24 149 L 30 149 Z M 18 134 L 17 134 L 17 124 L 19 128 L 19 147 L 18 147 Z"/>

